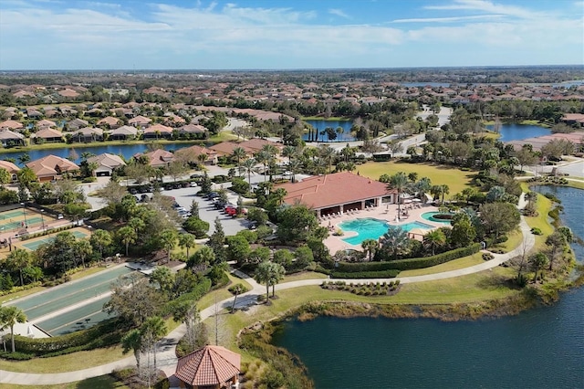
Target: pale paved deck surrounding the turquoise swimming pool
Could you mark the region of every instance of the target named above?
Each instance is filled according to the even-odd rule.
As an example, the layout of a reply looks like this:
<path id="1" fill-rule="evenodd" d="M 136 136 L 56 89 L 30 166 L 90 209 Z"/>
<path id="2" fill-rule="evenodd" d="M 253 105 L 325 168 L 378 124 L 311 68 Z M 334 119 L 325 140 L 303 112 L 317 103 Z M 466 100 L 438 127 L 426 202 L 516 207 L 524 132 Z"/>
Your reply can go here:
<path id="1" fill-rule="evenodd" d="M 339 224 L 346 222 L 348 220 L 363 219 L 371 217 L 374 219 L 385 220 L 391 226 L 401 226 L 415 221 L 421 222 L 428 226 L 441 227 L 447 226 L 444 223 L 433 222 L 432 220 L 425 220 L 422 218 L 422 214 L 426 212 L 438 212 L 438 207 L 434 205 L 401 205 L 401 211 L 408 211 L 408 217 L 402 216 L 401 219 L 397 219 L 398 216 L 398 205 L 381 205 L 367 210 L 360 210 L 356 213 L 343 214 L 341 216 L 332 217 L 330 219 L 325 219 L 320 222 L 320 226 L 328 227 L 330 230 L 330 235 L 324 240 L 324 244 L 328 247 L 331 254 L 335 254 L 339 250 L 345 250 L 348 248 L 355 250 L 362 250 L 360 245 L 351 245 L 348 242 L 342 240 L 347 237 L 354 237 L 357 233 L 353 231 L 344 232 L 342 237 L 335 237 L 332 235 L 337 229 L 339 229 Z M 340 228 L 342 229 L 342 228 Z"/>

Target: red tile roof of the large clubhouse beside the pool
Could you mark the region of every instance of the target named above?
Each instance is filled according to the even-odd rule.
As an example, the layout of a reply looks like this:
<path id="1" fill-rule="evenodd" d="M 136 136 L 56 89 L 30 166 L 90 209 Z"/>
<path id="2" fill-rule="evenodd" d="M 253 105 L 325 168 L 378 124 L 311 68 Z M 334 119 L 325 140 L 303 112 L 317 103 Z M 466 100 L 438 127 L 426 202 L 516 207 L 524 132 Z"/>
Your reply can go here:
<path id="1" fill-rule="evenodd" d="M 281 184 L 277 187 L 286 189 L 286 204 L 299 201 L 315 209 L 397 193 L 388 191 L 386 184 L 349 172 L 317 175 L 298 183 Z"/>

